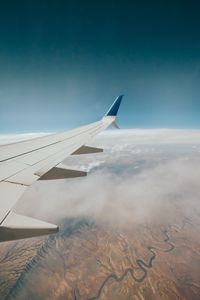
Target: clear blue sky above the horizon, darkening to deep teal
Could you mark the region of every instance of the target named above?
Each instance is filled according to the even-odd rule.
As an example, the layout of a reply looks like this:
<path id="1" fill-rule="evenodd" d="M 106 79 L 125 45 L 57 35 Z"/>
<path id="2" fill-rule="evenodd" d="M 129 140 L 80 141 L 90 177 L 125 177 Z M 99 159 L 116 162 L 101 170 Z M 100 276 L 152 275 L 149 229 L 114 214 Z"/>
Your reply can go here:
<path id="1" fill-rule="evenodd" d="M 198 1 L 1 1 L 0 133 L 200 128 Z"/>

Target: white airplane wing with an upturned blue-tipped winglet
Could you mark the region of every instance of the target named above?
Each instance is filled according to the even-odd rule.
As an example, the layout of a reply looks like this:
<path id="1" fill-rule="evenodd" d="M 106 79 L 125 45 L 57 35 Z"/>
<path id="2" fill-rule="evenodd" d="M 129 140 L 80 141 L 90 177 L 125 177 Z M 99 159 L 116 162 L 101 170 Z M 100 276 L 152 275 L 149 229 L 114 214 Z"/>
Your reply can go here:
<path id="1" fill-rule="evenodd" d="M 57 225 L 17 214 L 14 205 L 37 180 L 85 176 L 86 172 L 68 170 L 61 162 L 69 155 L 103 151 L 88 146 L 88 143 L 111 123 L 115 123 L 122 97 L 116 98 L 107 114 L 98 122 L 0 146 L 0 242 L 58 231 Z"/>

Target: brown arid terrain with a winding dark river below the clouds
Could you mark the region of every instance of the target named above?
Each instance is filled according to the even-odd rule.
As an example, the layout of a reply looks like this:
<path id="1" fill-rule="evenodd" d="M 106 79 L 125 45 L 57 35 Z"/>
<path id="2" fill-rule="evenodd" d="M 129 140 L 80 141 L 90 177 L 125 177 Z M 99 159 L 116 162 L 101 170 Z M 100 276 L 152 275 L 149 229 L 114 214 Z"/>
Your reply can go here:
<path id="1" fill-rule="evenodd" d="M 1 299 L 200 299 L 199 216 L 125 227 L 71 220 L 1 244 Z"/>

